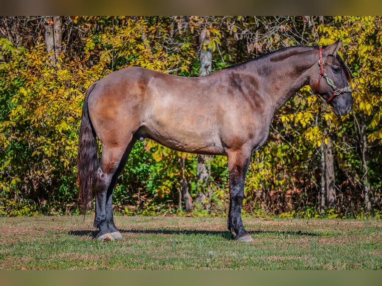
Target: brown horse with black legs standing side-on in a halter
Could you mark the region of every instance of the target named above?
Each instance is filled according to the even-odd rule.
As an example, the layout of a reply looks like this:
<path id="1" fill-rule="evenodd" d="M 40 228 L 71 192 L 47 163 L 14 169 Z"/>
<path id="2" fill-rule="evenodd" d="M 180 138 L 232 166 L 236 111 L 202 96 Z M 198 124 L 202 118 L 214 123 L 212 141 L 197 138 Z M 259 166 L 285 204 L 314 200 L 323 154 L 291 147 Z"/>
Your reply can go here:
<path id="1" fill-rule="evenodd" d="M 251 241 L 241 220 L 244 179 L 275 112 L 305 85 L 337 116 L 352 109 L 350 72 L 338 47 L 288 47 L 204 77 L 131 67 L 94 83 L 83 104 L 78 183 L 85 210 L 94 189 L 97 238 L 122 238 L 113 221 L 113 188 L 134 143 L 149 138 L 179 151 L 228 157 L 228 230 L 233 239 Z"/>

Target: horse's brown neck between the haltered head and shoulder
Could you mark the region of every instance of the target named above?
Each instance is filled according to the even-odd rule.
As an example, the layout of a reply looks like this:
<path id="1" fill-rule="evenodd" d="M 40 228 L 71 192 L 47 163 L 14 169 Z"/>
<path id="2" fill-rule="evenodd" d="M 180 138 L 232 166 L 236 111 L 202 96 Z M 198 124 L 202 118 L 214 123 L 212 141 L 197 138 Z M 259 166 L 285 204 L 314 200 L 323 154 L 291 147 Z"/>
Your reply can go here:
<path id="1" fill-rule="evenodd" d="M 266 78 L 263 78 L 265 82 L 263 92 L 266 97 L 269 97 L 274 112 L 278 111 L 300 88 L 309 83 L 307 72 L 314 63 L 315 53 L 311 49 L 303 48 L 276 52 L 259 62 L 259 66 L 267 65 L 269 71 L 268 75 L 265 75 Z"/>

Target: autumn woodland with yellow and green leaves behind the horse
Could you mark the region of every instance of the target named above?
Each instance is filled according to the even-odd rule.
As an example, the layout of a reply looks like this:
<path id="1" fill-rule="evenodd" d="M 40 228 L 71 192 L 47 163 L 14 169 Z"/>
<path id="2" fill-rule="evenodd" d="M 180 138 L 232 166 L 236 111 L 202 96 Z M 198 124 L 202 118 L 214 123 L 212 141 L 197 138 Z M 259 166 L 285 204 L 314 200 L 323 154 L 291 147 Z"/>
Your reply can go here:
<path id="1" fill-rule="evenodd" d="M 355 16 L 2 16 L 0 215 L 80 212 L 84 93 L 110 72 L 141 66 L 203 76 L 279 48 L 340 39 L 353 111 L 339 118 L 309 87 L 296 93 L 252 155 L 243 212 L 381 218 L 381 26 L 381 17 Z M 138 142 L 114 194 L 122 215 L 225 216 L 227 161 Z"/>

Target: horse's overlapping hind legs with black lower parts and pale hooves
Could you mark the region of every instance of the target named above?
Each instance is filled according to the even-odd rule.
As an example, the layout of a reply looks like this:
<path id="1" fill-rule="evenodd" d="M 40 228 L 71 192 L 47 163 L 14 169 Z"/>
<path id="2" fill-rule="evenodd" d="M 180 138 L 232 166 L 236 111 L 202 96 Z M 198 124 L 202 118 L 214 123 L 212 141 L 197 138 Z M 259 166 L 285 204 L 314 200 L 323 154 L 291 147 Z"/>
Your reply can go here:
<path id="1" fill-rule="evenodd" d="M 103 146 L 95 185 L 96 214 L 94 227 L 99 229 L 97 239 L 114 240 L 122 238 L 113 219 L 113 189 L 134 143 L 135 140 L 133 139 L 127 148 Z"/>

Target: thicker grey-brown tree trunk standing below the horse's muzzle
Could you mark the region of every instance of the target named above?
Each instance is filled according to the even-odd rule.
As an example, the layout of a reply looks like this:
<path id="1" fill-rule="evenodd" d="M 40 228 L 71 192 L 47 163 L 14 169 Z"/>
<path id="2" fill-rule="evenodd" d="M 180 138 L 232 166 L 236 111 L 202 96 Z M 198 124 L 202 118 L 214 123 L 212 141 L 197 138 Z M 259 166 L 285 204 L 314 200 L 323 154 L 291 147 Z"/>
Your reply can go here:
<path id="1" fill-rule="evenodd" d="M 328 143 L 325 144 L 325 185 L 326 185 L 326 205 L 328 209 L 334 208 L 337 203 L 335 176 L 334 176 L 334 158 L 332 140 L 328 136 Z"/>

